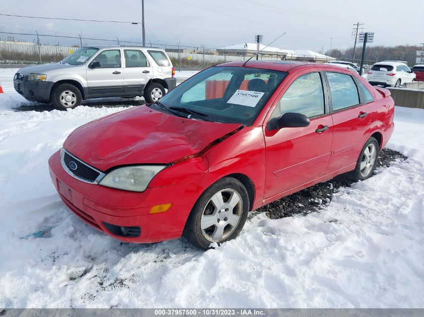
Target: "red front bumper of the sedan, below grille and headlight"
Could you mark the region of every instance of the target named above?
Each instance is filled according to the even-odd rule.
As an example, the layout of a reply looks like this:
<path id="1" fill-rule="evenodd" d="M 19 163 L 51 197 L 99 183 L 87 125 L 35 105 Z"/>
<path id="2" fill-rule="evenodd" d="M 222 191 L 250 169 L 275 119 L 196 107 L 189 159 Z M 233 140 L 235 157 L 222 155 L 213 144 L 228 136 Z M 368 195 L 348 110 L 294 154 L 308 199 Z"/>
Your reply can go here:
<path id="1" fill-rule="evenodd" d="M 60 198 L 84 222 L 125 242 L 149 243 L 182 235 L 187 217 L 202 192 L 194 184 L 148 188 L 142 193 L 124 191 L 79 181 L 60 162 L 60 151 L 49 159 L 50 176 Z M 162 213 L 150 214 L 152 206 L 172 203 Z M 139 226 L 140 235 L 124 237 L 108 230 L 115 226 Z"/>

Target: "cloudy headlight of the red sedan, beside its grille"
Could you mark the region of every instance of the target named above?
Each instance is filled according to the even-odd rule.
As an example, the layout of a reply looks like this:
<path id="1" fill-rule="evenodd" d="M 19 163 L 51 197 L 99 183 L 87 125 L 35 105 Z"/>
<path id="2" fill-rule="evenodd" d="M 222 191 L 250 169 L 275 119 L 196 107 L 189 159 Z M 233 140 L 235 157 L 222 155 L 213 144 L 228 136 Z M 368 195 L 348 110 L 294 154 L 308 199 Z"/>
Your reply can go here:
<path id="1" fill-rule="evenodd" d="M 104 176 L 100 185 L 131 191 L 145 191 L 150 181 L 166 165 L 136 165 L 119 167 Z"/>

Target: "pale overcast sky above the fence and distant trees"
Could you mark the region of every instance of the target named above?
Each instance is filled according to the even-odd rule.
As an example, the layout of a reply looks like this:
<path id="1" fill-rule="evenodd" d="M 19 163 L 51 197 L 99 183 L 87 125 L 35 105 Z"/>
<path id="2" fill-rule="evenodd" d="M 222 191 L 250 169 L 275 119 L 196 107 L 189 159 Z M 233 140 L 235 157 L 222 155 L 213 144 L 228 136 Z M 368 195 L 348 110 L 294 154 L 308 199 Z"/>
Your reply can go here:
<path id="1" fill-rule="evenodd" d="M 34 1 L 2 0 L 0 13 L 36 17 L 141 21 L 141 0 Z M 147 43 L 217 48 L 253 42 L 263 34 L 268 44 L 287 32 L 271 46 L 283 49 L 324 51 L 353 46 L 353 24 L 364 23 L 364 32 L 375 32 L 374 45 L 417 45 L 424 42 L 422 13 L 424 0 L 404 2 L 357 0 L 354 2 L 320 0 L 145 0 Z M 141 41 L 141 25 L 40 20 L 0 16 L 0 32 L 107 38 Z M 0 34 L 5 37 L 7 34 Z M 15 36 L 25 40 L 34 37 Z M 57 39 L 61 44 L 79 40 Z M 42 38 L 42 43 L 55 43 Z M 84 40 L 84 43 L 93 41 Z M 97 42 L 98 44 L 99 42 Z M 114 44 L 103 42 L 104 44 Z M 370 44 L 372 45 L 372 44 Z"/>

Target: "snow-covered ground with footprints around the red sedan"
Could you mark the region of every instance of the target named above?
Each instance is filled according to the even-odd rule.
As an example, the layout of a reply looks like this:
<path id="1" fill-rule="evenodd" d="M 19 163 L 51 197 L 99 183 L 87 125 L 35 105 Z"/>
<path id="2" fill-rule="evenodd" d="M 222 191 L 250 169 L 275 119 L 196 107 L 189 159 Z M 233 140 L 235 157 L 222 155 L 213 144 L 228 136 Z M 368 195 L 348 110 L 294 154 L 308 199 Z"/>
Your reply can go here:
<path id="1" fill-rule="evenodd" d="M 0 69 L 0 307 L 424 307 L 424 110 L 396 107 L 388 147 L 407 161 L 320 212 L 256 215 L 203 252 L 183 238 L 121 244 L 68 211 L 48 158 L 124 108 L 13 111 L 27 103 L 15 71 Z"/>

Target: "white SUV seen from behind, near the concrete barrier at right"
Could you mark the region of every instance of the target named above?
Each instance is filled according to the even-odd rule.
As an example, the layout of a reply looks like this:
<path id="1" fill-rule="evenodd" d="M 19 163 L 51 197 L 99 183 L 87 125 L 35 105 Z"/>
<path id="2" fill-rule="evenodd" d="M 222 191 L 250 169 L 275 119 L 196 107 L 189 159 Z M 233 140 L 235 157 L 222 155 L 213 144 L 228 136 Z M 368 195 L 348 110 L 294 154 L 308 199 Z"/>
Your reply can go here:
<path id="1" fill-rule="evenodd" d="M 368 71 L 367 81 L 374 86 L 400 87 L 415 80 L 416 75 L 402 62 L 375 63 Z"/>

